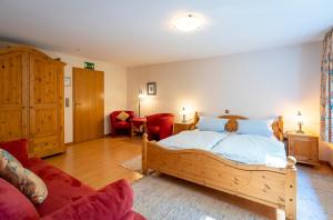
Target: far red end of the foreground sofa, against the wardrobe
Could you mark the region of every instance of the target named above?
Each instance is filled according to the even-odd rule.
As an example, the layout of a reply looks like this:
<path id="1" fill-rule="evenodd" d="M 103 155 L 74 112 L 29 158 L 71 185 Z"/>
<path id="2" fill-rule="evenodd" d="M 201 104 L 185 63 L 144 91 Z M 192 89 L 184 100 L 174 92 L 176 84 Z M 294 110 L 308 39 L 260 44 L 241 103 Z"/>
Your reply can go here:
<path id="1" fill-rule="evenodd" d="M 14 140 L 9 142 L 1 142 L 0 148 L 8 151 L 16 159 L 18 159 L 24 167 L 28 162 L 28 140 Z"/>

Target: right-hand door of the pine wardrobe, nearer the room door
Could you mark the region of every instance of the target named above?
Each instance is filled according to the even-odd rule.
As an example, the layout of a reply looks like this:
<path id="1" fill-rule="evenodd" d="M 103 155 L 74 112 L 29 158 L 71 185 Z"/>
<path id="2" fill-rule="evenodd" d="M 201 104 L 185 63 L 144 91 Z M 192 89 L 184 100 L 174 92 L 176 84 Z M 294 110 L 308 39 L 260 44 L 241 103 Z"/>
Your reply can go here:
<path id="1" fill-rule="evenodd" d="M 63 67 L 30 56 L 30 144 L 38 157 L 64 151 Z"/>

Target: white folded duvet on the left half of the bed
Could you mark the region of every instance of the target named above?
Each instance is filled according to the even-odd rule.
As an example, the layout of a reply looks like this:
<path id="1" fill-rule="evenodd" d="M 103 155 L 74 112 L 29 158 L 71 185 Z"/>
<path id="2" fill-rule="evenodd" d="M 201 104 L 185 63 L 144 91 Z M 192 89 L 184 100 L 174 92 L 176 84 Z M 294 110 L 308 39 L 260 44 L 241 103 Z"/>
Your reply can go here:
<path id="1" fill-rule="evenodd" d="M 171 136 L 158 143 L 171 149 L 200 149 L 210 151 L 219 141 L 226 138 L 226 132 L 215 131 L 182 131 L 175 136 Z"/>

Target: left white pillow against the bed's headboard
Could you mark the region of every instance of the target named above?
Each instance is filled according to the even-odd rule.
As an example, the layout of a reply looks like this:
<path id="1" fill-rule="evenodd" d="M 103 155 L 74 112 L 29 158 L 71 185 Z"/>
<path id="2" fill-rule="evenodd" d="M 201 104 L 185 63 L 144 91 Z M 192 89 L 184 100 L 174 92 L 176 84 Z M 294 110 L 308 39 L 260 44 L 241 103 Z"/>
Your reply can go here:
<path id="1" fill-rule="evenodd" d="M 219 119 L 215 117 L 200 117 L 196 128 L 200 131 L 224 132 L 228 119 Z"/>

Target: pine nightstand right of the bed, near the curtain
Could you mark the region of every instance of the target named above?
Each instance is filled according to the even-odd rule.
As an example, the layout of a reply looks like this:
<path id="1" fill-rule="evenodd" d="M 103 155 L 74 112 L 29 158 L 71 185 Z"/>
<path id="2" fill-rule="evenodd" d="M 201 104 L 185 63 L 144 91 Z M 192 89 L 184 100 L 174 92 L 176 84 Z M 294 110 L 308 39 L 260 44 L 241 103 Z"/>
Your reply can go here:
<path id="1" fill-rule="evenodd" d="M 287 152 L 300 163 L 319 166 L 319 137 L 312 133 L 287 133 Z"/>

